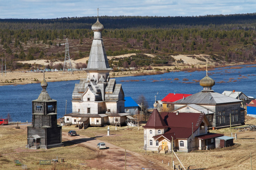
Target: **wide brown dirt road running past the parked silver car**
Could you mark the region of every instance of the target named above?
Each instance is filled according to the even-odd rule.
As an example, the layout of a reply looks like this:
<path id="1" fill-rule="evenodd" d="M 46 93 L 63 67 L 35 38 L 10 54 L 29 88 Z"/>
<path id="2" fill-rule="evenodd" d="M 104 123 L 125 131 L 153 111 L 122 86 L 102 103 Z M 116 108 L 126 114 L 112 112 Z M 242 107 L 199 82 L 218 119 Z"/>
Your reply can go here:
<path id="1" fill-rule="evenodd" d="M 99 150 L 97 143 L 104 142 L 102 140 L 88 138 L 86 136 L 68 136 L 62 134 L 63 140 L 69 140 L 74 144 L 79 144 L 91 148 L 91 150 L 97 152 L 97 158 L 94 160 L 88 160 L 87 165 L 91 168 L 97 169 L 124 169 L 125 167 L 125 150 L 121 147 L 115 146 L 108 142 L 106 143 L 107 149 Z M 157 163 L 151 162 L 144 158 L 142 155 L 126 150 L 126 168 L 127 170 L 133 169 L 156 169 L 165 170 L 165 167 L 161 167 Z"/>

